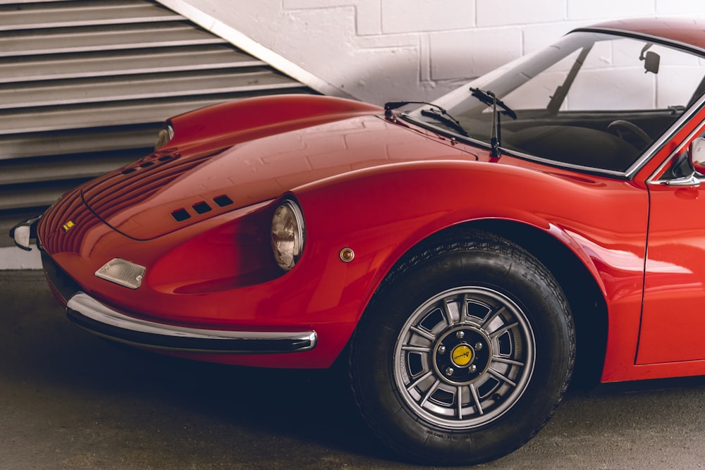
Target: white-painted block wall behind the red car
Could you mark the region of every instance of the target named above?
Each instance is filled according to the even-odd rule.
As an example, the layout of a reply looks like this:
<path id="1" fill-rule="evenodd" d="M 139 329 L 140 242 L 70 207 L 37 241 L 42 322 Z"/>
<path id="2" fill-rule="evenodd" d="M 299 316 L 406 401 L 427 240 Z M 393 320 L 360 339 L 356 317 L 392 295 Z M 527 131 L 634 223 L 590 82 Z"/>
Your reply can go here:
<path id="1" fill-rule="evenodd" d="M 573 27 L 635 16 L 705 16 L 703 0 L 162 3 L 224 23 L 333 87 L 378 104 L 433 99 Z"/>

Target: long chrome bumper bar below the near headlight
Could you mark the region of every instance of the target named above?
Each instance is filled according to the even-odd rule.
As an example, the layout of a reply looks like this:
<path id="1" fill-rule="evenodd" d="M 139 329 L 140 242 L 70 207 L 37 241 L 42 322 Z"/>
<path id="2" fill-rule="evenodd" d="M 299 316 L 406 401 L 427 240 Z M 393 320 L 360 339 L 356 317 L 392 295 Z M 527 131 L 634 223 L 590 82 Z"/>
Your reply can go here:
<path id="1" fill-rule="evenodd" d="M 266 354 L 312 350 L 317 342 L 315 331 L 207 330 L 135 319 L 106 307 L 85 292 L 73 295 L 66 311 L 68 319 L 95 335 L 156 350 Z"/>

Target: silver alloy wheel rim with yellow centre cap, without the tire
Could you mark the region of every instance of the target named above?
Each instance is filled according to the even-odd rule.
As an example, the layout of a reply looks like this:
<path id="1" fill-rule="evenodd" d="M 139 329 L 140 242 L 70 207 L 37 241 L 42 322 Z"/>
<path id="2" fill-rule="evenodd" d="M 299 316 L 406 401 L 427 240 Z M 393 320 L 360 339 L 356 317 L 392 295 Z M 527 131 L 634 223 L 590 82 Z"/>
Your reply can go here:
<path id="1" fill-rule="evenodd" d="M 467 430 L 494 421 L 519 400 L 534 371 L 534 333 L 501 292 L 458 287 L 424 302 L 394 348 L 401 397 L 428 423 Z"/>

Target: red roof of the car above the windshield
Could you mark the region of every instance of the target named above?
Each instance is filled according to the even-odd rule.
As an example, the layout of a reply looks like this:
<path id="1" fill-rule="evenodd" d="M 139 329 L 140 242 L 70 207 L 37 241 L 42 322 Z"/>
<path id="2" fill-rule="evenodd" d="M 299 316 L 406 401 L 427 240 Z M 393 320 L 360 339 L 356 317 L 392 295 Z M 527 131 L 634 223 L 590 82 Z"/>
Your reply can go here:
<path id="1" fill-rule="evenodd" d="M 607 21 L 581 29 L 631 32 L 705 50 L 705 20 L 696 18 L 634 18 Z"/>

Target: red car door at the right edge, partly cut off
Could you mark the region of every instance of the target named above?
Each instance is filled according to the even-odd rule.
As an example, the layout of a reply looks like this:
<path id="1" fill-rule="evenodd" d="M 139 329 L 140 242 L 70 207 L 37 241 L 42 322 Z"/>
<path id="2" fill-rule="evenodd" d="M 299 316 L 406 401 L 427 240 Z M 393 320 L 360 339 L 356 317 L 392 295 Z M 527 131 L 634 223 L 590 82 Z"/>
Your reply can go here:
<path id="1" fill-rule="evenodd" d="M 700 113 L 699 118 L 702 118 Z M 675 147 L 649 187 L 649 234 L 637 364 L 705 359 L 705 177 L 688 177 L 686 152 L 705 123 Z M 666 146 L 668 147 L 668 145 Z"/>

